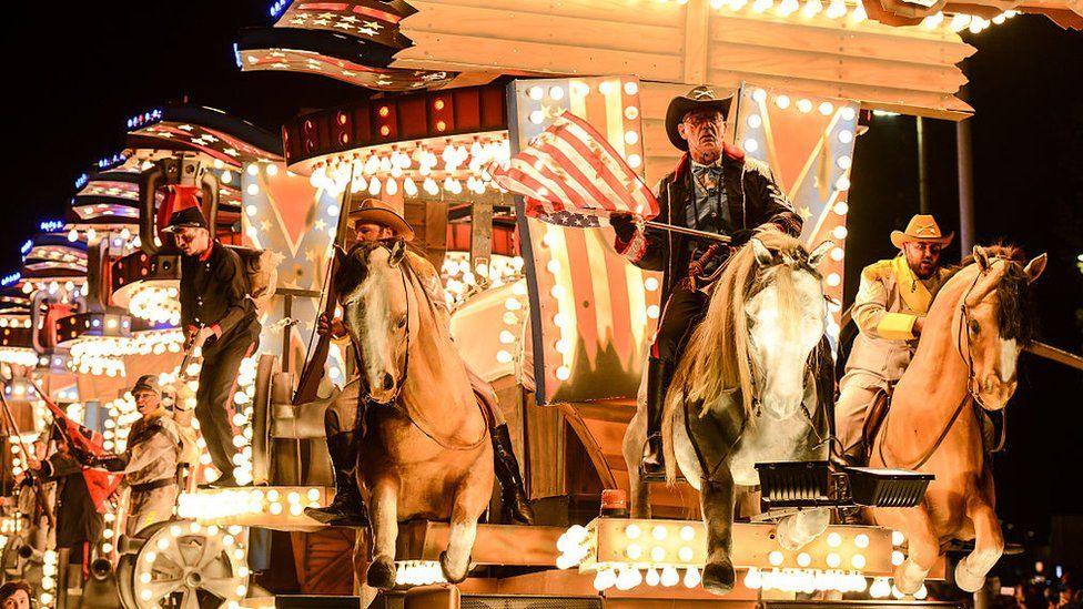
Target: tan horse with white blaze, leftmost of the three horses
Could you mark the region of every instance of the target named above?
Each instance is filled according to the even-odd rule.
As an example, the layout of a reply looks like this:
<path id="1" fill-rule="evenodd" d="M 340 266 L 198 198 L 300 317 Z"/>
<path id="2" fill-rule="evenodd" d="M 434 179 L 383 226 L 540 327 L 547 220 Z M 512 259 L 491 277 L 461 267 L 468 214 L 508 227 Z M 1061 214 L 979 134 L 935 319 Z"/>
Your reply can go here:
<path id="1" fill-rule="evenodd" d="M 358 245 L 335 281 L 377 405 L 357 465 L 373 521 L 367 582 L 395 585 L 398 522 L 412 518 L 451 520 L 441 566 L 448 581 L 462 581 L 493 491 L 493 447 L 466 366 L 403 241 Z"/>

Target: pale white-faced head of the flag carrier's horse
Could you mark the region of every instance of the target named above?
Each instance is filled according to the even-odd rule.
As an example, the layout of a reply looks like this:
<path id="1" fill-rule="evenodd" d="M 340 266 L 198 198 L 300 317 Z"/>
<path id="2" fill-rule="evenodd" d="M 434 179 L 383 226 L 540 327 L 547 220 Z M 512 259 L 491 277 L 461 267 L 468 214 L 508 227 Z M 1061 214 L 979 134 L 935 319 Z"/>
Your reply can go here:
<path id="1" fill-rule="evenodd" d="M 820 273 L 823 243 L 809 254 L 797 240 L 769 247 L 752 238 L 755 280 L 745 300 L 748 354 L 763 409 L 787 419 L 804 398 L 806 364 L 826 329 Z"/>

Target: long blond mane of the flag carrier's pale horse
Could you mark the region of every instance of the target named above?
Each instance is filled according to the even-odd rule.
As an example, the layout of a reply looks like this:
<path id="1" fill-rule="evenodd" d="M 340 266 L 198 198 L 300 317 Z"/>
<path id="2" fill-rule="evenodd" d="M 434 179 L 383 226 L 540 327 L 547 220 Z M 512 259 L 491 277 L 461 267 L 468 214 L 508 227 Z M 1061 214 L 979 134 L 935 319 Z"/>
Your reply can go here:
<path id="1" fill-rule="evenodd" d="M 776 256 L 802 260 L 807 256 L 801 244 L 786 233 L 762 231 L 758 238 Z M 686 399 L 702 408 L 717 402 L 726 393 L 739 390 L 746 416 L 752 413 L 755 386 L 749 358 L 748 319 L 745 305 L 767 283 L 768 277 L 779 291 L 779 319 L 788 332 L 797 331 L 801 318 L 800 300 L 793 282 L 793 270 L 785 264 L 760 272 L 752 246 L 738 250 L 729 260 L 715 284 L 707 313 L 692 332 L 685 355 L 677 366 L 674 385 L 666 400 L 668 420 L 672 410 Z"/>

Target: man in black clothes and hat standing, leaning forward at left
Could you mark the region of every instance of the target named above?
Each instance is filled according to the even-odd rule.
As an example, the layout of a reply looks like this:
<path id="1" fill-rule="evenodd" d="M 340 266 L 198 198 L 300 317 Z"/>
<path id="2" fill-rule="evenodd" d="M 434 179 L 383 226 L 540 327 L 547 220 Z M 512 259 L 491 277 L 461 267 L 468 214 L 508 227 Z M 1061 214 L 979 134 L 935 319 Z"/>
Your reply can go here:
<path id="1" fill-rule="evenodd" d="M 202 349 L 203 368 L 195 394 L 195 418 L 211 463 L 222 473 L 211 486 L 235 487 L 233 394 L 241 361 L 255 352 L 260 319 L 249 298 L 241 256 L 212 238 L 199 207 L 173 213 L 164 231 L 173 235 L 181 260 L 181 324 L 189 348 Z"/>

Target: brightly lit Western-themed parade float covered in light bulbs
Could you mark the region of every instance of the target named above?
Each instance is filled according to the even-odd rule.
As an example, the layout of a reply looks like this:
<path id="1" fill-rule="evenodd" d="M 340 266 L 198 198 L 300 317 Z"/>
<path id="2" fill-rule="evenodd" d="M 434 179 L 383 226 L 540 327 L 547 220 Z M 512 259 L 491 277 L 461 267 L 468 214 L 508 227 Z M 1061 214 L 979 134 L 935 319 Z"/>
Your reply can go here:
<path id="1" fill-rule="evenodd" d="M 719 599 L 699 589 L 706 540 L 692 489 L 655 485 L 654 518 L 628 517 L 620 445 L 660 314 L 660 277 L 617 255 L 601 223 L 528 217 L 490 172 L 570 112 L 654 184 L 678 154 L 664 132 L 669 100 L 704 83 L 731 90 L 728 141 L 771 168 L 804 220 L 802 243 L 833 243 L 821 272 L 834 342 L 856 138 L 872 111 L 966 119 L 958 64 L 974 49 L 958 32 L 1018 12 L 1062 27 L 1083 19 L 1059 2 L 275 2 L 272 27 L 241 32 L 242 70 L 322 74 L 368 91 L 287 122 L 281 141 L 209 109 L 132 118 L 125 150 L 80 177 L 69 216 L 23 252 L 19 276 L 4 278 L 0 362 L 17 435 L 29 441 L 47 425 L 21 378 L 72 406 L 70 416 L 117 450 L 134 418 L 131 379 L 191 383 L 176 328 L 178 256 L 159 234 L 175 186 L 189 187 L 219 238 L 276 260 L 261 348 L 237 393 L 235 465 L 249 486 L 195 490 L 214 475 L 203 471 L 204 455 L 174 520 L 123 538 L 122 514 L 111 512 L 97 556 L 124 607 L 273 607 L 276 586 L 383 607 L 457 607 L 460 593 L 479 606 L 614 608 L 889 597 L 907 552 L 898 531 L 831 526 L 790 550 L 770 511 L 747 501 L 733 534 L 740 585 Z M 362 587 L 365 532 L 303 515 L 333 488 L 323 409 L 295 404 L 294 392 L 336 227 L 350 201 L 365 196 L 399 209 L 442 271 L 458 349 L 496 389 L 535 500 L 534 526 L 479 527 L 475 569 L 457 587 L 432 586 L 444 579 L 446 522 L 401 527 L 398 586 L 375 596 Z M 332 346 L 322 396 L 347 380 L 346 359 Z M 14 455 L 6 481 L 19 473 L 18 444 L 4 450 Z M 840 496 L 826 469 L 810 476 L 814 505 L 858 501 Z M 772 510 L 812 505 L 765 499 Z M 30 525 L 11 514 L 6 538 Z M 252 530 L 274 531 L 261 534 L 259 552 Z M 42 605 L 58 595 L 49 552 L 43 541 L 27 552 Z M 943 565 L 931 574 L 944 576 Z"/>

